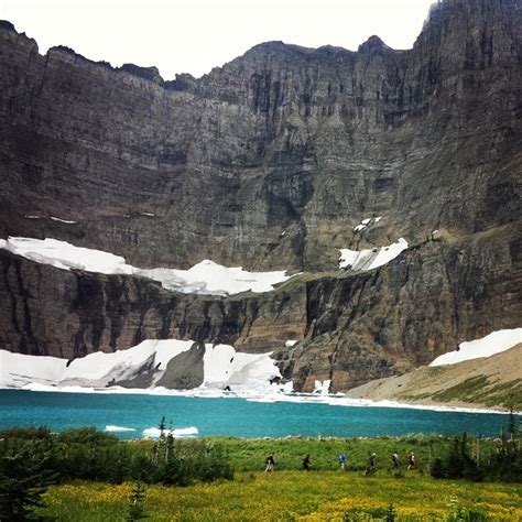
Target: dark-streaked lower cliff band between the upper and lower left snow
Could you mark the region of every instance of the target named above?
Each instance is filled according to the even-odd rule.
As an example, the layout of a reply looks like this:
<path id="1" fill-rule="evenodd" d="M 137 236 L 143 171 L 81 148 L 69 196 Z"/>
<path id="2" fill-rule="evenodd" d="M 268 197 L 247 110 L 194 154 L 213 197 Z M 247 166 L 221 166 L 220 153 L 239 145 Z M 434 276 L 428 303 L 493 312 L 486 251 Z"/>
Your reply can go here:
<path id="1" fill-rule="evenodd" d="M 65 271 L 0 250 L 0 347 L 73 359 L 144 339 L 272 351 L 303 337 L 304 286 L 230 297 L 176 294 L 145 278 Z"/>

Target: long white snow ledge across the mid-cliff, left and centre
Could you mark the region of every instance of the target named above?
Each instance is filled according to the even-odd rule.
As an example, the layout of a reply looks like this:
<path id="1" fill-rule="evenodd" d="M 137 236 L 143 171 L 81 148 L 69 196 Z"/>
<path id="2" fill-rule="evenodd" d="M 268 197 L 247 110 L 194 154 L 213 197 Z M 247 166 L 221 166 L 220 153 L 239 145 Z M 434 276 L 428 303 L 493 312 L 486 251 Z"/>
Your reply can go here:
<path id="1" fill-rule="evenodd" d="M 73 222 L 73 221 L 70 221 Z M 204 260 L 188 270 L 139 269 L 124 258 L 101 250 L 75 247 L 56 239 L 0 239 L 0 248 L 37 263 L 62 270 L 85 270 L 102 274 L 141 275 L 161 282 L 163 287 L 183 293 L 229 295 L 252 291 L 270 292 L 273 285 L 289 279 L 286 272 L 248 272 L 241 267 L 228 268 Z"/>

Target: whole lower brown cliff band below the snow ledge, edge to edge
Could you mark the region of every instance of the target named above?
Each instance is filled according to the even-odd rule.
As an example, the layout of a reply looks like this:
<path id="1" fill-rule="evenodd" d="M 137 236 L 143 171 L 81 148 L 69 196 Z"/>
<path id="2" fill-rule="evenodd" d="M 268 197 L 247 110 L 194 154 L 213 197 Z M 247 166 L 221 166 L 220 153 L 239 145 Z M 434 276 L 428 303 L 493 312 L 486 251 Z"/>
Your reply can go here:
<path id="1" fill-rule="evenodd" d="M 316 379 L 346 390 L 516 327 L 521 230 L 504 226 L 459 241 L 443 235 L 373 271 L 305 275 L 267 294 L 230 297 L 175 294 L 148 279 L 67 272 L 0 251 L 0 346 L 73 359 L 146 338 L 224 342 L 274 351 L 297 390 L 312 391 Z M 286 347 L 289 339 L 301 341 Z M 167 369 L 170 387 L 199 383 L 194 350 Z"/>

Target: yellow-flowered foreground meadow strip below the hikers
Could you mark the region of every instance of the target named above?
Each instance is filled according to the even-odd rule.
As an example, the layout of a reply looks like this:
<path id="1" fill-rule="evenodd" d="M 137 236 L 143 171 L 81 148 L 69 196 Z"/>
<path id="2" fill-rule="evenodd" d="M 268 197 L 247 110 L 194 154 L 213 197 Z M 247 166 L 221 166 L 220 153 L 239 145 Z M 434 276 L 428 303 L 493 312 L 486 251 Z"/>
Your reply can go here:
<path id="1" fill-rule="evenodd" d="M 238 472 L 233 482 L 187 488 L 151 486 L 144 509 L 151 521 L 376 520 L 393 504 L 395 520 L 447 520 L 458 508 L 490 520 L 522 520 L 520 487 L 434 480 L 418 471 L 394 478 L 348 471 Z M 58 521 L 123 521 L 131 483 L 76 482 L 52 487 L 41 514 Z M 377 519 L 379 520 L 379 519 Z M 382 520 L 382 519 L 381 519 Z"/>

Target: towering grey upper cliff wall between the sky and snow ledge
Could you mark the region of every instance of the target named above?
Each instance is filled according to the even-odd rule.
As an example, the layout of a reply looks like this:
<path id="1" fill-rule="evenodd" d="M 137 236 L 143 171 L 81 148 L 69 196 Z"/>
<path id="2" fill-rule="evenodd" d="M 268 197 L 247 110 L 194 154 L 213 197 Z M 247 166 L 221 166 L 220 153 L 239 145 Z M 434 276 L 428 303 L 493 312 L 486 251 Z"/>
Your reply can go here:
<path id="1" fill-rule="evenodd" d="M 338 248 L 476 232 L 520 205 L 514 0 L 446 0 L 410 51 L 270 42 L 166 84 L 0 39 L 4 236 L 143 267 L 328 270 Z"/>

